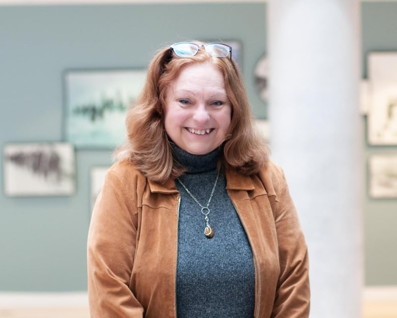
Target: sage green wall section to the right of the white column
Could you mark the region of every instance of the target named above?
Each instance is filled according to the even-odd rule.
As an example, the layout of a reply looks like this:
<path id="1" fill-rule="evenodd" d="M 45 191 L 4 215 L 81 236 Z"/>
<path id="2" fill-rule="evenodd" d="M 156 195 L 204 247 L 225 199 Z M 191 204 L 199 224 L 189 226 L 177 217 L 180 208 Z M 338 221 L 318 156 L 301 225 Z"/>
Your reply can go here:
<path id="1" fill-rule="evenodd" d="M 363 78 L 367 78 L 368 52 L 397 51 L 396 34 L 397 3 L 362 4 Z M 365 144 L 365 149 L 366 158 L 373 153 L 397 154 L 397 146 Z M 366 196 L 364 208 L 366 284 L 397 285 L 397 199 Z"/>

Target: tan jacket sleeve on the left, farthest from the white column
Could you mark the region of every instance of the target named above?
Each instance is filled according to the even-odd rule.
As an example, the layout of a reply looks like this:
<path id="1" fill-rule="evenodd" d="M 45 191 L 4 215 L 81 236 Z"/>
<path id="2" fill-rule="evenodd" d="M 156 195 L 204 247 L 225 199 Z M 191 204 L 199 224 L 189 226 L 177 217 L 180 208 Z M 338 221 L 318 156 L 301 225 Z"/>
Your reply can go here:
<path id="1" fill-rule="evenodd" d="M 136 196 L 135 196 L 136 197 Z M 142 318 L 143 306 L 129 288 L 136 241 L 137 204 L 108 171 L 88 234 L 88 294 L 92 318 Z"/>

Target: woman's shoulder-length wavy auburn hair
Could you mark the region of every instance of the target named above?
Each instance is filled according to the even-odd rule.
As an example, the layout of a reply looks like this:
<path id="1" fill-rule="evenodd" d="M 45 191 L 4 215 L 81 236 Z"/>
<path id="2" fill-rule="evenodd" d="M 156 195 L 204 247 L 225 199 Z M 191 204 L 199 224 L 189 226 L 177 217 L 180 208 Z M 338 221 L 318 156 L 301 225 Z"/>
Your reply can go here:
<path id="1" fill-rule="evenodd" d="M 184 68 L 208 62 L 222 73 L 232 106 L 231 124 L 223 142 L 223 162 L 220 164 L 235 167 L 244 175 L 255 174 L 266 165 L 269 148 L 257 132 L 244 82 L 234 59 L 211 57 L 205 49 L 199 49 L 193 57 L 180 58 L 169 47 L 161 49 L 148 66 L 143 91 L 127 111 L 127 142 L 115 150 L 115 160 L 130 161 L 148 179 L 159 183 L 185 172 L 173 157 L 164 128 L 165 98 L 168 87 Z"/>

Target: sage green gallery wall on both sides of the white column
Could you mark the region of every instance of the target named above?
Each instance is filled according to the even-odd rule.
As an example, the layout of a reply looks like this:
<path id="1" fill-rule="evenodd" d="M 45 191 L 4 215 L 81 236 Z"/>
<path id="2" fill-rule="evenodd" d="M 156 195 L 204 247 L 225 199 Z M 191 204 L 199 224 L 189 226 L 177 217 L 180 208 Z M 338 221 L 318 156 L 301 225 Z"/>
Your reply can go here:
<path id="1" fill-rule="evenodd" d="M 395 3 L 362 4 L 363 57 L 397 50 L 396 15 Z M 190 39 L 241 43 L 251 107 L 266 119 L 253 74 L 266 53 L 264 3 L 0 7 L 2 151 L 9 143 L 65 139 L 66 70 L 144 69 L 164 44 Z M 366 155 L 397 152 L 364 147 Z M 8 196 L 0 182 L 0 290 L 86 290 L 90 171 L 110 165 L 110 156 L 111 149 L 76 149 L 72 195 Z M 2 156 L 0 164 L 4 180 Z M 366 284 L 397 285 L 397 199 L 367 196 L 364 208 Z"/>

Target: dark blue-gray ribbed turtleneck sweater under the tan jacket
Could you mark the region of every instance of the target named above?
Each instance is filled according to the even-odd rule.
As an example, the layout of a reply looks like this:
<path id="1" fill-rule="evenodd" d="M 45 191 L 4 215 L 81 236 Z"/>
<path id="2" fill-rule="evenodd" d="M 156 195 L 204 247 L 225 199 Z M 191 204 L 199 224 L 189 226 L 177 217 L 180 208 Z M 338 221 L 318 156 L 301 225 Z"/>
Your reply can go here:
<path id="1" fill-rule="evenodd" d="M 173 144 L 173 153 L 188 172 L 180 177 L 190 193 L 206 206 L 217 175 L 221 149 L 192 155 Z M 178 318 L 253 316 L 255 273 L 247 235 L 228 193 L 221 171 L 209 205 L 214 236 L 204 235 L 201 207 L 181 184 L 177 262 Z"/>

